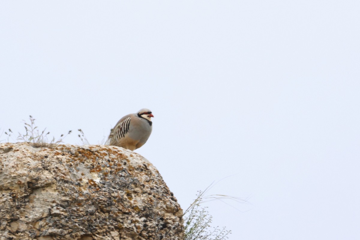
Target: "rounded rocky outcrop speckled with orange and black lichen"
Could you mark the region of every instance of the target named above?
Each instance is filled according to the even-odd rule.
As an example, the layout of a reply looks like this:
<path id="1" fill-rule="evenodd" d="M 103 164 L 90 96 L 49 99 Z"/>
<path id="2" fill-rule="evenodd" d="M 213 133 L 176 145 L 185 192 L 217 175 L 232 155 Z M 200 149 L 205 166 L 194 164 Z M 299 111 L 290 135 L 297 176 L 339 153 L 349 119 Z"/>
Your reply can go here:
<path id="1" fill-rule="evenodd" d="M 180 240 L 182 214 L 130 150 L 0 144 L 0 240 Z"/>

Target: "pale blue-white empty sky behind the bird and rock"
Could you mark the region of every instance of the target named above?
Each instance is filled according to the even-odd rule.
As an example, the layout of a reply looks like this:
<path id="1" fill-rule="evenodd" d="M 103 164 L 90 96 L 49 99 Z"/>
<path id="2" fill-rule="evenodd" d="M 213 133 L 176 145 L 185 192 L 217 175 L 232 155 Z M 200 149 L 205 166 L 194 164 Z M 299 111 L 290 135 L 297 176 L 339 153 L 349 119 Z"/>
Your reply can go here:
<path id="1" fill-rule="evenodd" d="M 207 204 L 230 240 L 359 239 L 359 13 L 355 0 L 2 1 L 0 135 L 32 115 L 97 144 L 149 108 L 135 152 L 184 209 L 228 176 L 209 194 L 248 200 Z"/>

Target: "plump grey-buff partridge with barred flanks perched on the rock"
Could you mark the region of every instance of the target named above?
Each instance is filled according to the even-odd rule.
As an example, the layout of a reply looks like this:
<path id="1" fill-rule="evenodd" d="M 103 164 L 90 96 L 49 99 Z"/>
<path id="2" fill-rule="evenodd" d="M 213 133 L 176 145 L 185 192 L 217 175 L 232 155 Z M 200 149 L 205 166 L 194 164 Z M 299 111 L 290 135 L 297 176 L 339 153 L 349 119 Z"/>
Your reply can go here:
<path id="1" fill-rule="evenodd" d="M 151 134 L 152 117 L 154 115 L 147 108 L 122 117 L 111 129 L 108 145 L 119 146 L 131 151 L 140 148 Z"/>

